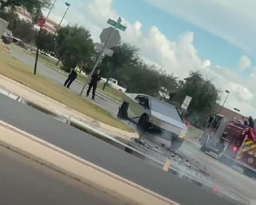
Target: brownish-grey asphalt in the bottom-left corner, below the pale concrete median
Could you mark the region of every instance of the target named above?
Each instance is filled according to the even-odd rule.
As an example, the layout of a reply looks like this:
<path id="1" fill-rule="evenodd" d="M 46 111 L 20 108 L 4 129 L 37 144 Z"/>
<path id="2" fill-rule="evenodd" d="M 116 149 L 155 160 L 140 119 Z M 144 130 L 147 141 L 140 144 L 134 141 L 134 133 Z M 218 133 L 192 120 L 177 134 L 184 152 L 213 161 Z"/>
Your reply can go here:
<path id="1" fill-rule="evenodd" d="M 100 190 L 0 146 L 1 205 L 124 205 Z"/>

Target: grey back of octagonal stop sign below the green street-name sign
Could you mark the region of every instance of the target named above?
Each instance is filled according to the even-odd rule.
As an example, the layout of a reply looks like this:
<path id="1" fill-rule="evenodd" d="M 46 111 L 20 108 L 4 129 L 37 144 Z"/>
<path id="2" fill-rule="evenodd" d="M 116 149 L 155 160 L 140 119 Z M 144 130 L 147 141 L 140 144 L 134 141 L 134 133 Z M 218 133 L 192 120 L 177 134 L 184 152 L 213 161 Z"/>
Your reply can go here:
<path id="1" fill-rule="evenodd" d="M 113 27 L 109 27 L 109 28 L 104 28 L 101 32 L 101 35 L 99 36 L 99 38 L 101 39 L 101 43 L 102 44 L 106 44 L 111 36 L 111 33 L 113 32 L 114 28 Z M 112 48 L 114 46 L 117 46 L 118 43 L 121 40 L 121 36 L 118 30 L 116 30 L 114 32 L 114 35 L 112 36 L 109 44 L 108 44 L 108 48 Z"/>

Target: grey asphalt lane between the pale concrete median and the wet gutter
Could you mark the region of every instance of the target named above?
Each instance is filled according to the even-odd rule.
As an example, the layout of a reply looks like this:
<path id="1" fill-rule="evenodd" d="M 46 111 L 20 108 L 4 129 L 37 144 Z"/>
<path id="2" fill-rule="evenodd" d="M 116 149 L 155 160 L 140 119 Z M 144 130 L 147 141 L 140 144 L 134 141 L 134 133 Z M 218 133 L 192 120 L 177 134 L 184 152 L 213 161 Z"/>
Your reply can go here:
<path id="1" fill-rule="evenodd" d="M 86 159 L 181 205 L 231 205 L 106 142 L 0 94 L 0 120 Z M 145 199 L 146 200 L 146 199 Z"/>

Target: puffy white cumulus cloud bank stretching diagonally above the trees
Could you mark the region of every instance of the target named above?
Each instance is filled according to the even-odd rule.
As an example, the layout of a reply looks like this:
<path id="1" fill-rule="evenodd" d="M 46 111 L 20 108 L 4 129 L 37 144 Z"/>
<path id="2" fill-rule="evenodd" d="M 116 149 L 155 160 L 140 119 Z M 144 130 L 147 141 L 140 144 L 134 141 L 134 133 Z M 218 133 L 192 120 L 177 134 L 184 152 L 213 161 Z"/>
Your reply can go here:
<path id="1" fill-rule="evenodd" d="M 118 13 L 111 8 L 112 1 L 113 0 L 89 0 L 88 3 L 80 3 L 79 5 L 71 6 L 65 18 L 65 23 L 79 23 L 84 25 L 86 28 L 90 29 L 94 41 L 98 42 L 101 30 L 108 27 L 106 24 L 108 18 L 118 18 Z M 151 1 L 154 3 L 154 0 Z M 195 3 L 198 1 L 199 0 L 195 0 Z M 159 1 L 159 6 L 161 6 L 161 2 L 163 3 L 164 0 Z M 185 4 L 184 2 L 184 0 L 175 1 L 173 6 L 176 7 L 175 4 L 180 5 L 183 3 L 184 5 L 181 8 L 188 9 L 190 3 Z M 204 1 L 200 2 L 204 4 Z M 60 19 L 65 8 L 65 5 L 57 3 L 56 9 L 53 10 L 50 18 L 53 20 Z M 189 11 L 188 16 L 190 14 L 191 12 Z M 208 23 L 209 22 L 211 21 L 208 21 Z M 201 70 L 203 74 L 207 75 L 208 79 L 213 80 L 215 86 L 221 90 L 230 91 L 229 99 L 226 102 L 227 107 L 230 109 L 237 107 L 241 110 L 242 114 L 253 115 L 254 113 L 256 117 L 256 90 L 251 89 L 253 88 L 252 86 L 254 86 L 256 69 L 252 69 L 251 77 L 244 80 L 236 71 L 221 66 L 212 66 L 210 60 L 200 59 L 193 45 L 193 32 L 188 31 L 182 33 L 177 42 L 172 42 L 154 25 L 145 31 L 142 29 L 143 25 L 140 21 L 132 23 L 123 19 L 122 24 L 127 26 L 127 30 L 120 33 L 122 40 L 139 47 L 141 56 L 147 63 L 163 67 L 168 72 L 173 72 L 175 76 L 181 79 L 187 77 L 191 70 Z M 241 62 L 242 68 L 251 67 L 250 60 L 248 61 L 248 59 L 244 58 Z M 222 93 L 221 97 L 225 99 L 226 94 Z"/>

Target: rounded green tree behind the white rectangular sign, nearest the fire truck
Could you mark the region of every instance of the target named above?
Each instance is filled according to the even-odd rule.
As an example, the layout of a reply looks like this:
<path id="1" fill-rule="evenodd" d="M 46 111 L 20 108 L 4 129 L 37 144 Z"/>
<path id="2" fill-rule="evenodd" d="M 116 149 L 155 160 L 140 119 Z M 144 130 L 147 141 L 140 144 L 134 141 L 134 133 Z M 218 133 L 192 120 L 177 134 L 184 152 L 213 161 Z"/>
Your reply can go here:
<path id="1" fill-rule="evenodd" d="M 192 101 L 185 117 L 192 125 L 202 129 L 206 126 L 207 118 L 214 114 L 220 100 L 219 92 L 211 80 L 204 78 L 199 71 L 191 71 L 185 82 L 180 82 L 171 103 L 181 106 L 186 95 L 191 96 Z"/>

